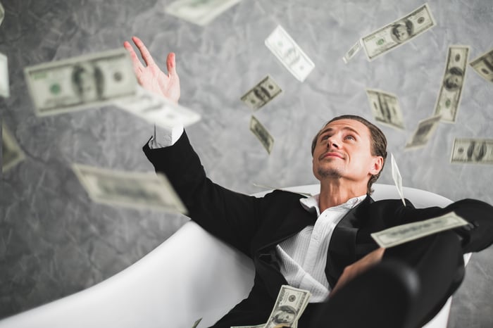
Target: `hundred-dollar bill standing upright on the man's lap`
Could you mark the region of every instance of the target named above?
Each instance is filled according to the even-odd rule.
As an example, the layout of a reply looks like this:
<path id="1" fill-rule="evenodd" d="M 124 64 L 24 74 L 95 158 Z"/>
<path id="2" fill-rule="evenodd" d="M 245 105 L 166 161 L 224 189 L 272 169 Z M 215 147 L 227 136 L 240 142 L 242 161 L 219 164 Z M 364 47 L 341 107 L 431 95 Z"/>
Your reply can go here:
<path id="1" fill-rule="evenodd" d="M 311 293 L 289 285 L 282 285 L 266 328 L 293 327 L 308 305 Z"/>

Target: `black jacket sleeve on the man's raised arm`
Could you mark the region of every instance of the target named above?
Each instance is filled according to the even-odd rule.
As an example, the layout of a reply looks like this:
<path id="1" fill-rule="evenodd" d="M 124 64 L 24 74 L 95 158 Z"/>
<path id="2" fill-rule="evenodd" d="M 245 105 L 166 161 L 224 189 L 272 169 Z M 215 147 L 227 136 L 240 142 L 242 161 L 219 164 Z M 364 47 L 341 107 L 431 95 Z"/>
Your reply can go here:
<path id="1" fill-rule="evenodd" d="M 249 244 L 260 225 L 263 198 L 239 194 L 208 179 L 185 132 L 173 146 L 150 149 L 145 144 L 143 150 L 156 172 L 168 177 L 192 220 L 251 256 Z"/>

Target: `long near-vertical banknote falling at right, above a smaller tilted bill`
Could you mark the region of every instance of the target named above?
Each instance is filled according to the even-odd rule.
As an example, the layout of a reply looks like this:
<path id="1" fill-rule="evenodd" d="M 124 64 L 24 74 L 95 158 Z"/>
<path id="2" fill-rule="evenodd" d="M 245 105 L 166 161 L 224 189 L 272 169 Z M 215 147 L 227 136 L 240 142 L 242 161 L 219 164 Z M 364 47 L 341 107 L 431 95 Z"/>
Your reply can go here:
<path id="1" fill-rule="evenodd" d="M 466 77 L 468 53 L 468 46 L 449 46 L 442 87 L 440 87 L 435 104 L 435 115 L 442 115 L 442 122 L 454 123 L 456 121 L 462 86 Z"/>

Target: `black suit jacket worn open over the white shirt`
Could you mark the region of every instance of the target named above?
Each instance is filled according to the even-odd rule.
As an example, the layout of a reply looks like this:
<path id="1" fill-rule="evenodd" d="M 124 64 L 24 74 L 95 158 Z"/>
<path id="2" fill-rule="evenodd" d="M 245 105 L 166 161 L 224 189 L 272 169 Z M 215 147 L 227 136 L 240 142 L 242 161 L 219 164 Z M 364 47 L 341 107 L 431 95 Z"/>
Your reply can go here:
<path id="1" fill-rule="evenodd" d="M 267 310 L 258 320 L 265 315 L 268 317 L 280 286 L 287 284 L 279 270 L 275 246 L 316 221 L 315 214 L 301 207 L 299 198 L 303 196 L 275 190 L 256 198 L 211 182 L 185 132 L 173 146 L 150 149 L 146 144 L 143 149 L 156 172 L 168 177 L 185 203 L 189 217 L 254 261 L 254 288 L 249 298 L 237 305 L 235 315 L 241 317 L 242 308 L 250 307 Z M 468 227 L 456 229 L 463 241 L 463 251 L 479 251 L 492 243 L 493 208 L 487 203 L 463 200 L 447 208 L 416 209 L 408 201 L 404 207 L 400 199 L 373 201 L 367 196 L 344 216 L 332 234 L 325 269 L 330 286 L 335 286 L 344 267 L 377 248 L 370 233 L 451 210 L 471 222 Z M 483 224 L 488 228 L 478 229 Z M 244 316 L 252 317 L 251 314 Z M 235 322 L 227 322 L 232 323 Z"/>

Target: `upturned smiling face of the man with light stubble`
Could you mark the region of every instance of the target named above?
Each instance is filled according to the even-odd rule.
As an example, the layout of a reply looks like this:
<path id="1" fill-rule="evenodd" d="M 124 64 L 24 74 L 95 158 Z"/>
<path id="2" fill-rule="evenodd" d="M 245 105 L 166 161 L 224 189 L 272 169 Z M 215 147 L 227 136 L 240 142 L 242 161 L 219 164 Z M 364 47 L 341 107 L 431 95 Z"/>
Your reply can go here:
<path id="1" fill-rule="evenodd" d="M 322 129 L 313 151 L 313 175 L 366 186 L 382 168 L 383 158 L 371 155 L 368 127 L 357 120 L 330 122 Z"/>

